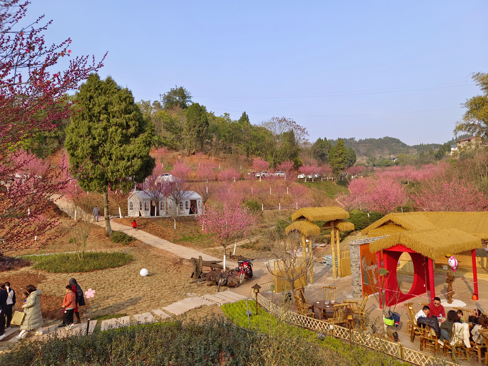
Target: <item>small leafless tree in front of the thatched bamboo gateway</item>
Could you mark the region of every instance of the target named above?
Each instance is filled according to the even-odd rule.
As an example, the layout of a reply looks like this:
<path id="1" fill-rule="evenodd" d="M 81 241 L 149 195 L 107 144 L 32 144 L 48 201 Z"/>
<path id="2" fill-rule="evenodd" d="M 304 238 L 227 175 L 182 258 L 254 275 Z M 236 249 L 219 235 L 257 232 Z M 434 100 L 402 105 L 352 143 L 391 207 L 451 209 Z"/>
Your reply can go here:
<path id="1" fill-rule="evenodd" d="M 284 235 L 282 230 L 271 230 L 265 240 L 270 242 L 271 253 L 277 264 L 276 271 L 274 267 L 270 268 L 269 264 L 266 264 L 268 271 L 278 279 L 286 281 L 294 293 L 295 281 L 306 277 L 313 266 L 313 253 L 301 251 L 302 235 L 298 232 Z"/>

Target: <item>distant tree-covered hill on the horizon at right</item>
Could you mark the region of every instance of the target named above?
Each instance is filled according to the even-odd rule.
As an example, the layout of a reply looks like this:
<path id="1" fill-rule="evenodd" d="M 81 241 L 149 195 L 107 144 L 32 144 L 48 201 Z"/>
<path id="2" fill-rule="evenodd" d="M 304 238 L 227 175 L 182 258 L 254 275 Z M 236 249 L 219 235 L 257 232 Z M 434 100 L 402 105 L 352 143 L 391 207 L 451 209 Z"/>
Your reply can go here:
<path id="1" fill-rule="evenodd" d="M 470 135 L 462 135 L 458 136 L 459 139 L 464 139 L 465 137 L 470 137 Z M 337 140 L 329 140 L 332 145 L 337 143 Z M 448 141 L 447 143 L 454 144 L 456 139 L 453 138 L 452 140 Z M 439 145 L 443 145 L 443 143 L 421 143 L 418 145 L 407 145 L 405 142 L 400 141 L 394 137 L 383 137 L 381 139 L 359 139 L 356 138 L 345 138 L 344 144 L 346 148 L 352 147 L 353 150 L 356 152 L 356 156 L 358 160 L 364 160 L 364 158 L 368 158 L 370 156 L 378 158 L 388 158 L 388 157 L 396 157 L 398 154 L 418 154 L 421 151 L 428 152 L 430 148 L 436 151 L 439 148 Z"/>

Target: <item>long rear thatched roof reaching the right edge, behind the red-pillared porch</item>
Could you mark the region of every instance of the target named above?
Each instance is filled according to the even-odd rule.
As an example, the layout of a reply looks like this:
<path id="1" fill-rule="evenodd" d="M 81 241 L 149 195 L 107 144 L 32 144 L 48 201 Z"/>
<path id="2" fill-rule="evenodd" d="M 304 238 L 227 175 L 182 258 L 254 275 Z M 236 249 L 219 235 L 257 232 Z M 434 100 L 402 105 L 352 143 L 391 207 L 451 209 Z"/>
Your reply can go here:
<path id="1" fill-rule="evenodd" d="M 393 235 L 403 231 L 441 227 L 456 228 L 465 234 L 488 239 L 488 212 L 403 212 L 390 213 L 363 229 L 368 237 Z M 468 249 L 466 249 L 468 250 Z"/>

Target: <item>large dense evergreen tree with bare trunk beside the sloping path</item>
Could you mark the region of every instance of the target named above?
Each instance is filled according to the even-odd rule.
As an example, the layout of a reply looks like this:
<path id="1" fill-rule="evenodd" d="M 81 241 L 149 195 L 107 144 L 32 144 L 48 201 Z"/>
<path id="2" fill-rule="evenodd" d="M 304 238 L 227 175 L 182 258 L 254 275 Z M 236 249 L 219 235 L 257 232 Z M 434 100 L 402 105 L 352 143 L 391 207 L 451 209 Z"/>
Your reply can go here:
<path id="1" fill-rule="evenodd" d="M 70 167 L 85 172 L 81 188 L 103 194 L 105 231 L 110 234 L 108 188 L 130 189 L 151 174 L 154 124 L 143 118 L 132 92 L 110 76 L 100 80 L 91 74 L 75 98 L 79 112 L 66 128 L 64 145 Z"/>

